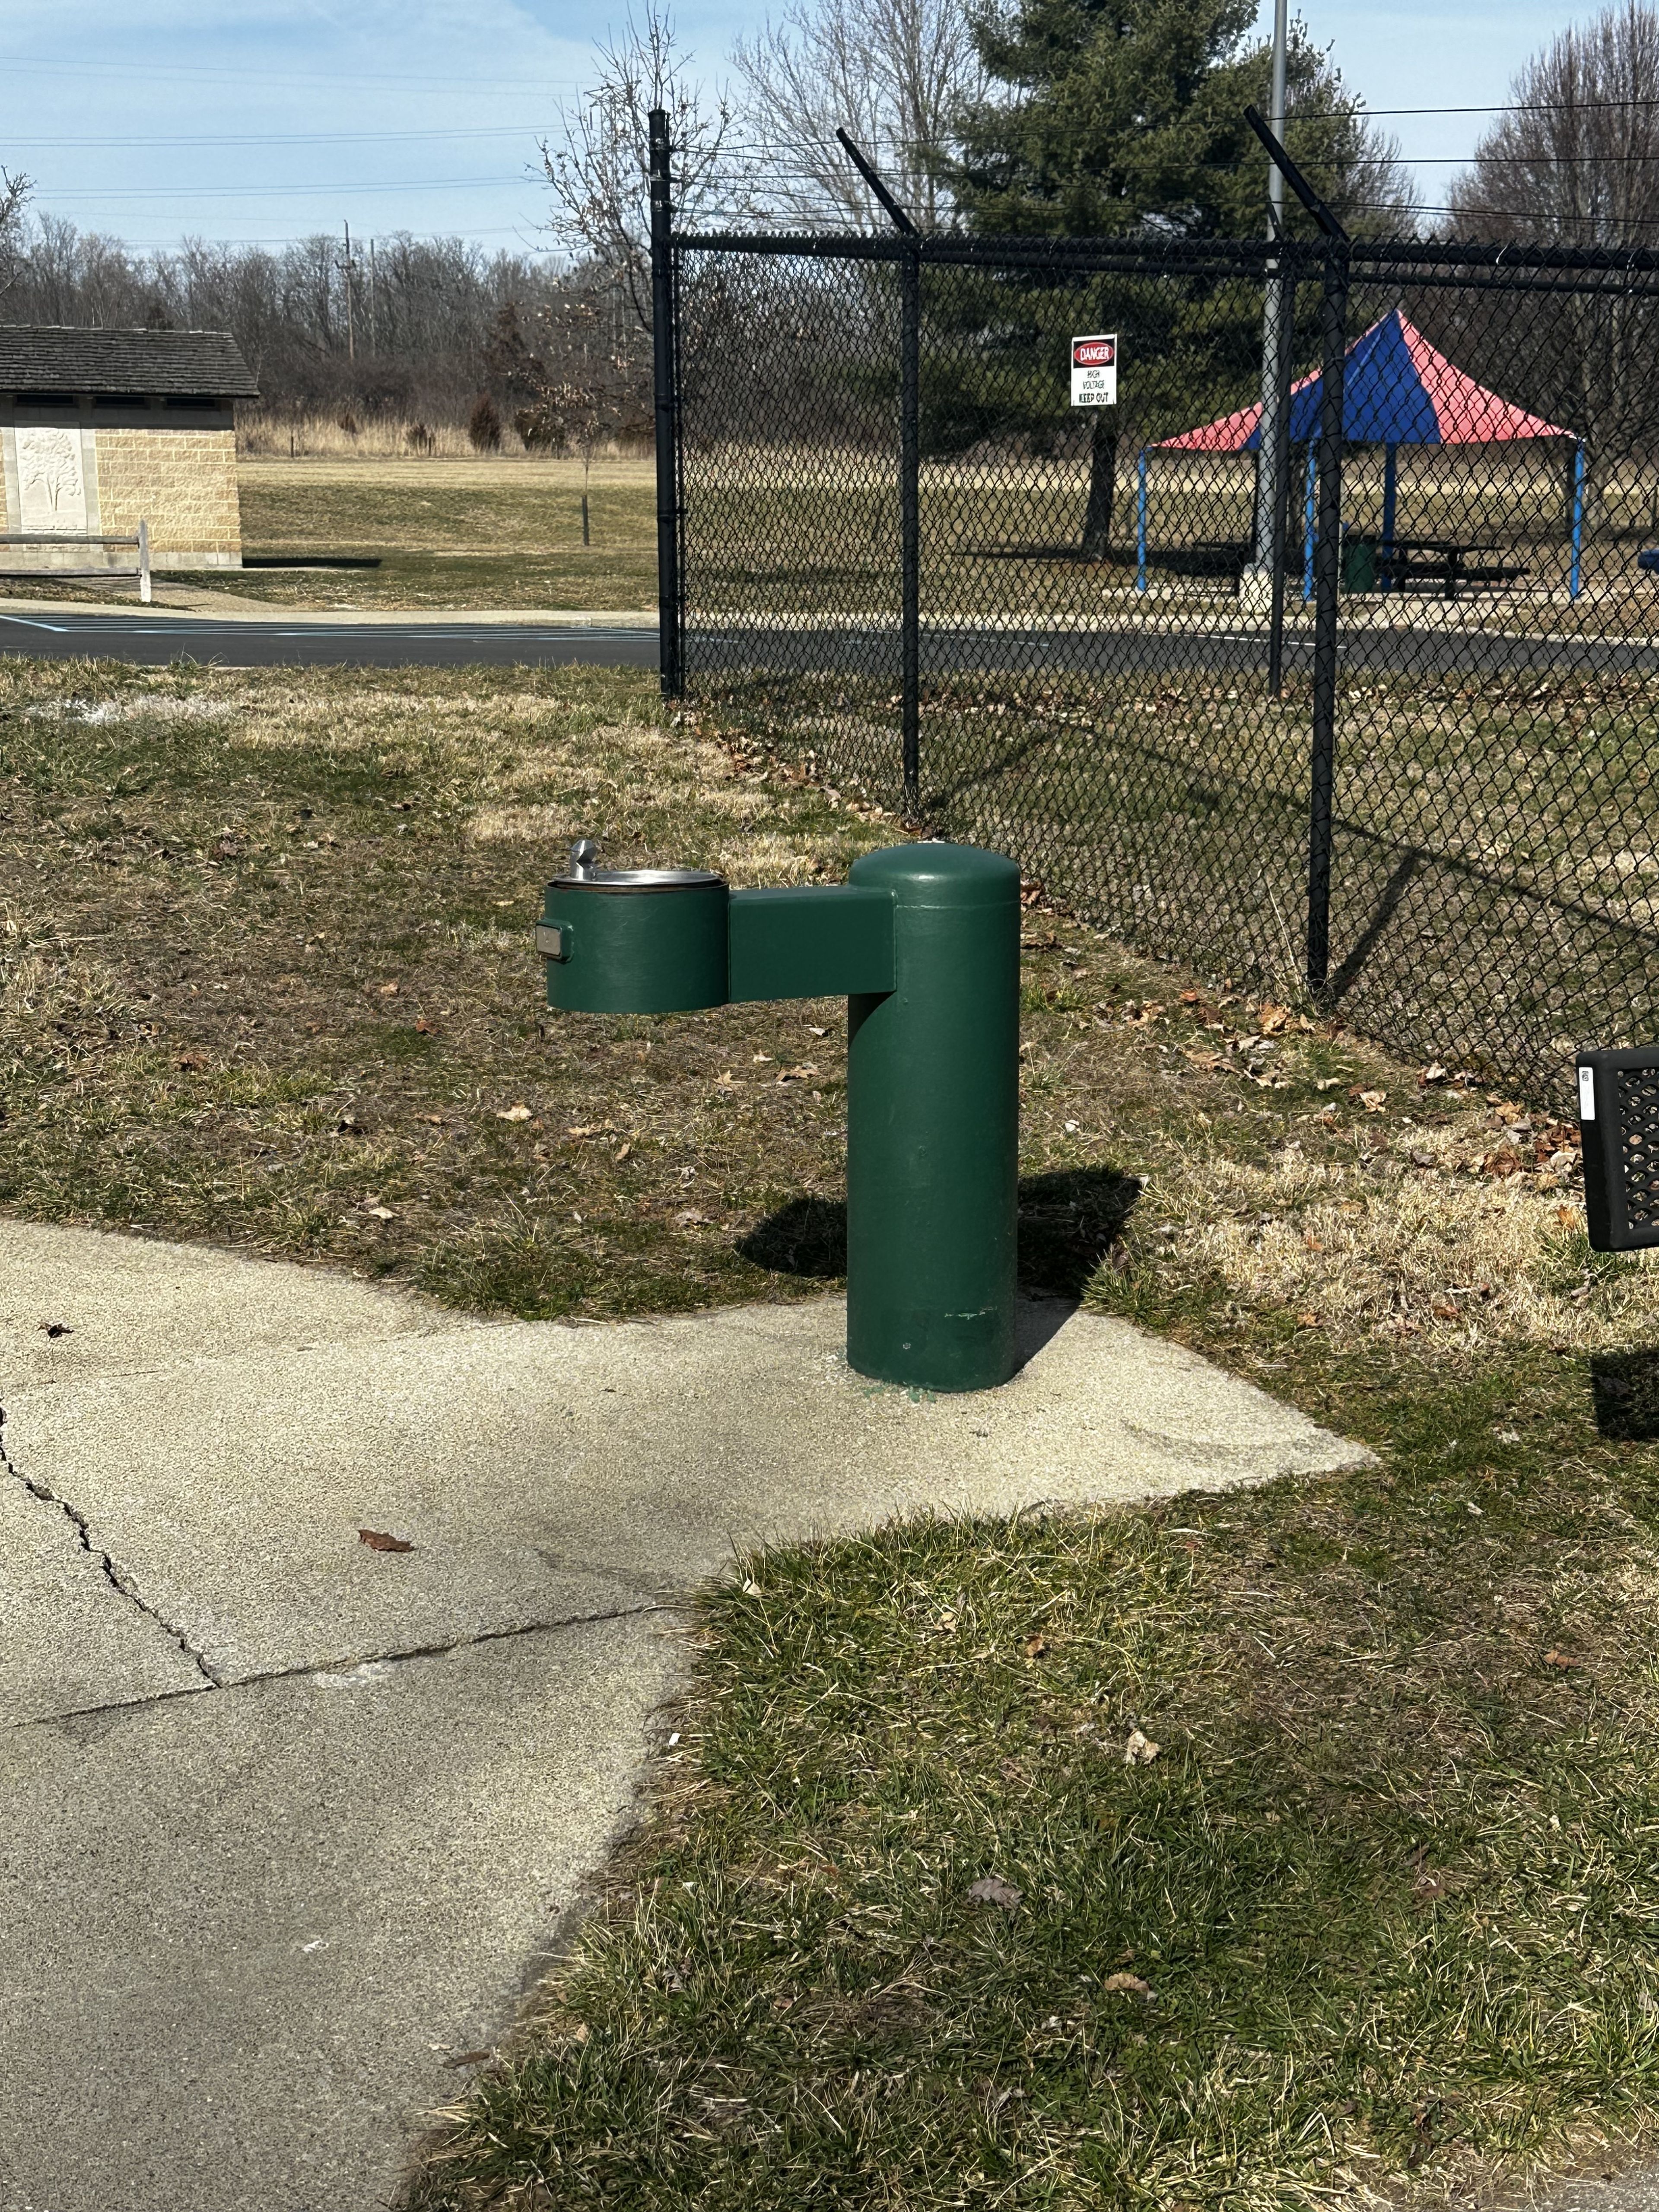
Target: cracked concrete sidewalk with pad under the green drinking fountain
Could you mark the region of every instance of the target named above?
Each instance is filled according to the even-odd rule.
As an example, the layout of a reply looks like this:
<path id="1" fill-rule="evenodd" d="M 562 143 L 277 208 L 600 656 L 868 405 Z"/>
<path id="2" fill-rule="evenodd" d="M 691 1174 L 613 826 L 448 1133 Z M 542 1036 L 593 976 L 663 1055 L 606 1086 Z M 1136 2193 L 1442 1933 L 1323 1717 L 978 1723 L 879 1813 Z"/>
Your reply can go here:
<path id="1" fill-rule="evenodd" d="M 628 1820 L 734 1544 L 1363 1458 L 1064 1307 L 969 1398 L 841 1332 L 476 1323 L 0 1221 L 4 2212 L 389 2203 Z"/>

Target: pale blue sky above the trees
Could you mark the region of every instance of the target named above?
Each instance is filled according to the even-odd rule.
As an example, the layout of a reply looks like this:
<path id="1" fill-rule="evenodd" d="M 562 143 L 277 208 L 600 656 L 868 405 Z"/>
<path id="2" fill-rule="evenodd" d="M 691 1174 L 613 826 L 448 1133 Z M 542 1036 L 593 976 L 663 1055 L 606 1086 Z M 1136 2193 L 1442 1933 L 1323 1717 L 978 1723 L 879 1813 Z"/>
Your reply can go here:
<path id="1" fill-rule="evenodd" d="M 1292 0 L 1292 7 L 1296 0 Z M 1535 0 L 1305 0 L 1312 35 L 1374 108 L 1504 97 L 1515 66 L 1595 9 Z M 584 80 L 602 9 L 557 0 L 9 0 L 0 161 L 35 206 L 142 246 L 186 232 L 462 232 L 535 246 L 526 175 Z M 688 0 L 717 75 L 765 0 Z M 1478 115 L 1389 122 L 1438 199 Z"/>

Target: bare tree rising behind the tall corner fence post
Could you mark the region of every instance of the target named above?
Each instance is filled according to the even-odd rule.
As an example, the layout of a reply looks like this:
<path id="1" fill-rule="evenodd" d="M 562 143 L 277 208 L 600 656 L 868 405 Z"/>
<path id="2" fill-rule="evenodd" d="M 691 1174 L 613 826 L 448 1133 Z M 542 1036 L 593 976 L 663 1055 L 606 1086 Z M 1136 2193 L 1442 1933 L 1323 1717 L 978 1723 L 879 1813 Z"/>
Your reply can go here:
<path id="1" fill-rule="evenodd" d="M 564 137 L 542 144 L 553 190 L 549 232 L 575 261 L 622 285 L 635 321 L 650 330 L 650 111 L 668 115 L 675 208 L 697 221 L 732 201 L 732 111 L 706 95 L 657 0 L 628 15 L 599 46 L 597 84 L 564 113 Z"/>

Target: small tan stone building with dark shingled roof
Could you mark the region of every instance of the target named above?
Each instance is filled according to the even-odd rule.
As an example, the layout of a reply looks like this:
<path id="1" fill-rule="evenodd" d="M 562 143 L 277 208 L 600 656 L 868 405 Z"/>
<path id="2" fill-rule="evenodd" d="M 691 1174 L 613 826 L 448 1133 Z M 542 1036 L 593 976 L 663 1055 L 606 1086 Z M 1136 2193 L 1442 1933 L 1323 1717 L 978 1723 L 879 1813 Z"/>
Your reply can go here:
<path id="1" fill-rule="evenodd" d="M 257 398 L 221 330 L 0 323 L 7 535 L 150 526 L 157 568 L 239 568 L 239 398 Z M 0 568 L 131 568 L 131 549 L 4 546 Z"/>

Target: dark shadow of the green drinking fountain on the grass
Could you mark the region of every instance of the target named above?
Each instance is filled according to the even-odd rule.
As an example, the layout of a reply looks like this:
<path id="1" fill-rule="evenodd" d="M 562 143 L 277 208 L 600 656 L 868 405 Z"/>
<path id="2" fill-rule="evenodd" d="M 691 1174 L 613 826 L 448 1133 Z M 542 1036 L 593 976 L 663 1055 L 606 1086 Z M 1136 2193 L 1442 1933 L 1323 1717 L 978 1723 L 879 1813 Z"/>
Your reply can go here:
<path id="1" fill-rule="evenodd" d="M 1020 1177 L 1020 1287 L 1079 1298 L 1139 1197 L 1115 1168 L 1060 1168 Z M 765 1214 L 739 1254 L 772 1274 L 821 1283 L 847 1272 L 847 1208 L 841 1199 L 790 1199 Z"/>

